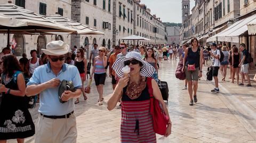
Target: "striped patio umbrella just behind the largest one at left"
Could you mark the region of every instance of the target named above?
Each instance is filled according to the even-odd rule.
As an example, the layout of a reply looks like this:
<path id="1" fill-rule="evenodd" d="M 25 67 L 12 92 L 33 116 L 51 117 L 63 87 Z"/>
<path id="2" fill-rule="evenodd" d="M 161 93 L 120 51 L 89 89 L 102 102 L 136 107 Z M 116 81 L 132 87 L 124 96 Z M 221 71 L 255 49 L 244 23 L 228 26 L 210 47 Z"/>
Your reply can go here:
<path id="1" fill-rule="evenodd" d="M 82 23 L 76 22 L 74 20 L 65 18 L 61 15 L 49 15 L 45 16 L 47 19 L 52 20 L 56 23 L 62 24 L 66 27 L 72 28 L 77 31 L 79 35 L 103 35 L 104 32 L 98 31 L 97 29 L 85 26 Z"/>

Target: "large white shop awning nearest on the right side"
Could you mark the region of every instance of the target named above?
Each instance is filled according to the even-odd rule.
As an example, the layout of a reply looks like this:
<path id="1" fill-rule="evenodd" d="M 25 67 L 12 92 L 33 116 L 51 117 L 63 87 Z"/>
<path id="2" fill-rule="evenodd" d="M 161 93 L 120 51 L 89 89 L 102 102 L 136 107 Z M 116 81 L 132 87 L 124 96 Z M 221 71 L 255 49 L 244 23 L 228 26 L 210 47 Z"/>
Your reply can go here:
<path id="1" fill-rule="evenodd" d="M 248 30 L 247 24 L 253 21 L 256 21 L 256 14 L 235 22 L 230 27 L 218 33 L 217 35 L 214 35 L 213 37 L 217 38 L 218 41 L 239 43 L 239 36 Z"/>

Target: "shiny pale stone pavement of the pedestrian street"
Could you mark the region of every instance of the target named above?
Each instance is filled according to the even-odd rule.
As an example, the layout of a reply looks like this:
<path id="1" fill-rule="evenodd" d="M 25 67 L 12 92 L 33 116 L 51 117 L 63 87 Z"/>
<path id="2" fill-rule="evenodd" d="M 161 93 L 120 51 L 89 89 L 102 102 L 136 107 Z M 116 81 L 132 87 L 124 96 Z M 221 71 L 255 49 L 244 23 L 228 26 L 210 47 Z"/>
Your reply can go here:
<path id="1" fill-rule="evenodd" d="M 189 106 L 188 91 L 181 90 L 184 81 L 174 76 L 177 63 L 164 61 L 159 70 L 159 79 L 169 84 L 167 105 L 173 123 L 169 142 L 256 142 L 255 82 L 249 88 L 221 81 L 220 93 L 212 94 L 210 90 L 214 88 L 214 82 L 206 82 L 204 68 L 204 77 L 199 81 L 198 103 Z M 92 93 L 87 95 L 89 98 L 84 101 L 81 97 L 81 102 L 76 105 L 77 142 L 120 142 L 121 110 L 108 111 L 106 106 L 113 92 L 110 82 L 107 78 L 102 106 L 98 105 L 99 96 L 94 83 Z M 35 122 L 37 108 L 30 110 Z M 26 142 L 34 142 L 34 137 L 26 139 Z"/>

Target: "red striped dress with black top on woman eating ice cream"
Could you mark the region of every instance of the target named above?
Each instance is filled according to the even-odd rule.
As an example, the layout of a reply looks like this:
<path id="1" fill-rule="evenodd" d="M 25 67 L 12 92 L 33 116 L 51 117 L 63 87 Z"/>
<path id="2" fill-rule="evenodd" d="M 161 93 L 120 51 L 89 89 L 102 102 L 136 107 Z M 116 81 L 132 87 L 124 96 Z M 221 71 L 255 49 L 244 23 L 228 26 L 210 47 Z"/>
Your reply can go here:
<path id="1" fill-rule="evenodd" d="M 121 142 L 155 143 L 152 116 L 149 113 L 150 96 L 148 86 L 137 99 L 130 99 L 125 87 L 122 96 Z"/>

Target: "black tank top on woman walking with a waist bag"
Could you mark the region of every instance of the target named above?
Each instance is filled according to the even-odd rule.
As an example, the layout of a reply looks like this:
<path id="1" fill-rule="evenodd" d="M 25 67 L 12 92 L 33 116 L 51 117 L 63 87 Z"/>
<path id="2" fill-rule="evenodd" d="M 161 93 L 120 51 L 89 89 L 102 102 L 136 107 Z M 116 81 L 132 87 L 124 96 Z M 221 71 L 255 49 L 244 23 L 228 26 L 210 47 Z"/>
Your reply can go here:
<path id="1" fill-rule="evenodd" d="M 196 68 L 198 68 L 199 61 L 200 61 L 200 48 L 197 48 L 196 52 L 193 52 L 192 48 L 188 48 L 188 56 L 186 59 L 186 65 L 195 64 Z"/>

